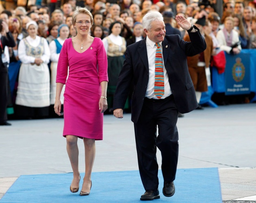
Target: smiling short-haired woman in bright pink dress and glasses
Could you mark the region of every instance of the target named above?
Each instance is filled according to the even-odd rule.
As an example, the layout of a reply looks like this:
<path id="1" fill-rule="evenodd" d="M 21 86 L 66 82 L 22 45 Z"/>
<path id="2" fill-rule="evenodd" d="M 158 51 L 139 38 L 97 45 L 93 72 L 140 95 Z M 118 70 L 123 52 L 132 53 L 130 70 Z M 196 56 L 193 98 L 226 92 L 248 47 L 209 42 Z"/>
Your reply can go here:
<path id="1" fill-rule="evenodd" d="M 103 112 L 107 109 L 106 89 L 108 83 L 107 56 L 100 38 L 88 32 L 93 17 L 85 8 L 77 8 L 72 16 L 76 37 L 66 39 L 59 56 L 56 76 L 54 111 L 61 115 L 61 90 L 64 92 L 64 130 L 67 153 L 73 170 L 71 192 L 78 192 L 78 138 L 85 145 L 85 177 L 80 195 L 91 190 L 91 171 L 95 158 L 95 140 L 103 138 Z M 67 78 L 68 73 L 68 78 Z"/>

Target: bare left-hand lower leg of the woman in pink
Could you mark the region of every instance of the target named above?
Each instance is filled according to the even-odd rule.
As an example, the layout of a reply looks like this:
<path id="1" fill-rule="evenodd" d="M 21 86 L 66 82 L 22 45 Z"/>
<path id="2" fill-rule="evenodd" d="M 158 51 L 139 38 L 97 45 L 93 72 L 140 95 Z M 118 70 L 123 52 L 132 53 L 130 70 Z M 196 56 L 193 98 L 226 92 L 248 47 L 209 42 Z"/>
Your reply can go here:
<path id="1" fill-rule="evenodd" d="M 73 170 L 73 180 L 70 185 L 72 188 L 79 188 L 79 177 L 80 173 L 78 171 L 78 145 L 77 145 L 77 136 L 73 135 L 67 135 L 66 140 L 67 140 L 67 154 L 71 163 L 71 167 Z"/>

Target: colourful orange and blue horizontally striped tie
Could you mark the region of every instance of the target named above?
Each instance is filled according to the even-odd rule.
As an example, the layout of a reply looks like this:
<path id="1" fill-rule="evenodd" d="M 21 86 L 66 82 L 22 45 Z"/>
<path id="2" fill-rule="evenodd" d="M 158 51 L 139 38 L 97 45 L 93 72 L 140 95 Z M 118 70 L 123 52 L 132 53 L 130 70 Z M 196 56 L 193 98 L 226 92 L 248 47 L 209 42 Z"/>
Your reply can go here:
<path id="1" fill-rule="evenodd" d="M 156 43 L 156 60 L 155 60 L 155 86 L 154 94 L 160 99 L 165 94 L 165 81 L 163 74 L 163 58 L 159 43 Z"/>

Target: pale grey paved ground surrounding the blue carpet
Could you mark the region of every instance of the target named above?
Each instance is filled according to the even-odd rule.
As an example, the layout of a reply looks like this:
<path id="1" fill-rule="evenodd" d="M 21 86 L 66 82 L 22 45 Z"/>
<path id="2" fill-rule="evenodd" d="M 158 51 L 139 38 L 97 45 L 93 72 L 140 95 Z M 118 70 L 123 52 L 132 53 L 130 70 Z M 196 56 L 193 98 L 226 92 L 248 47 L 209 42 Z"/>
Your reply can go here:
<path id="1" fill-rule="evenodd" d="M 0 198 L 20 175 L 71 172 L 63 119 L 10 123 L 0 126 Z M 218 167 L 223 202 L 256 202 L 255 103 L 195 110 L 177 125 L 178 168 Z M 84 160 L 79 141 L 79 159 Z M 130 114 L 104 116 L 104 140 L 96 142 L 96 151 L 93 171 L 138 170 Z M 82 161 L 79 166 L 85 170 Z"/>

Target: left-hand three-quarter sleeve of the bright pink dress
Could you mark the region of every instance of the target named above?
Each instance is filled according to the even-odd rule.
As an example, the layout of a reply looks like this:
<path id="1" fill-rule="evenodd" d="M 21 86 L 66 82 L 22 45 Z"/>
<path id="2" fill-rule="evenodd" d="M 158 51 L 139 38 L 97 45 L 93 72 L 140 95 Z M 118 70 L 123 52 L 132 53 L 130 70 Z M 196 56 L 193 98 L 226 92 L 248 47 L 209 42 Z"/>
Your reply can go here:
<path id="1" fill-rule="evenodd" d="M 67 80 L 67 72 L 68 72 L 68 53 L 67 53 L 67 40 L 63 43 L 61 48 L 61 53 L 59 56 L 58 66 L 57 66 L 57 76 L 56 82 L 60 82 L 62 84 L 66 83 Z"/>

